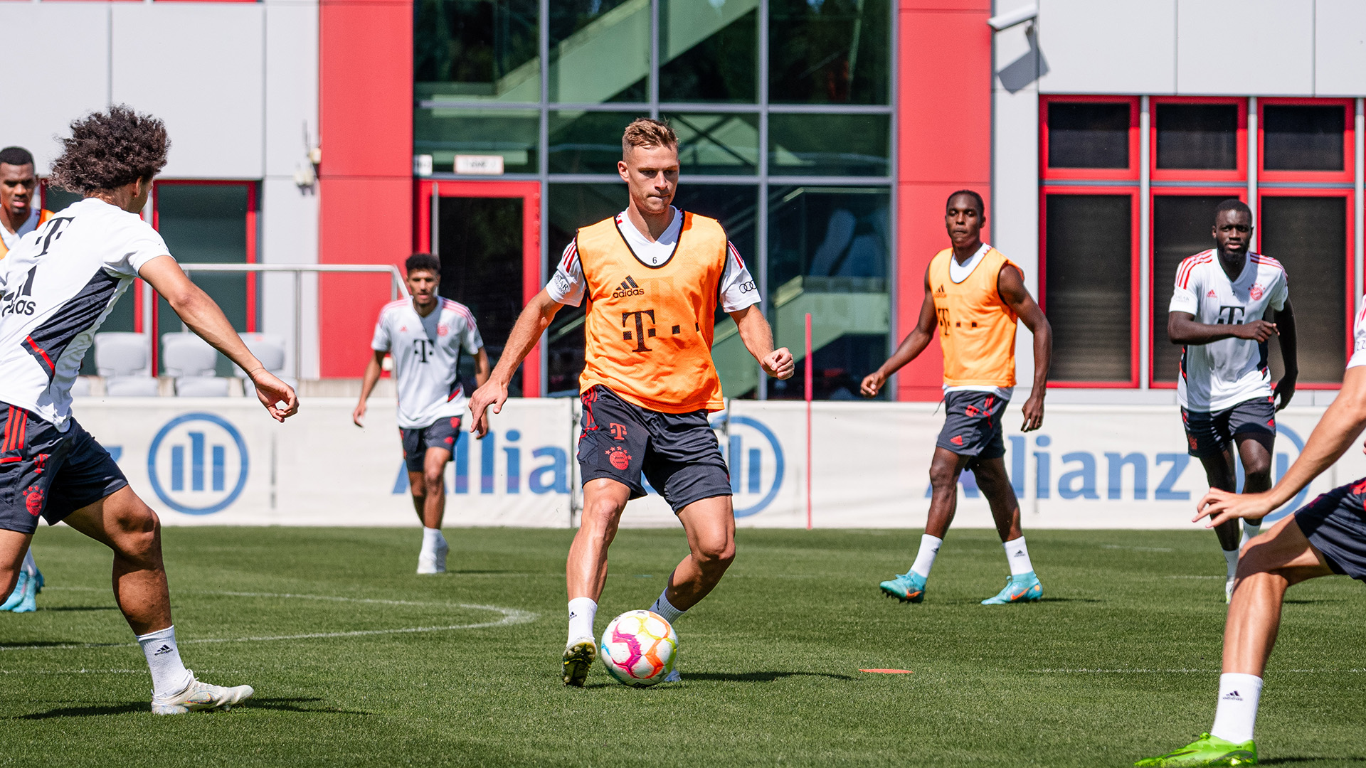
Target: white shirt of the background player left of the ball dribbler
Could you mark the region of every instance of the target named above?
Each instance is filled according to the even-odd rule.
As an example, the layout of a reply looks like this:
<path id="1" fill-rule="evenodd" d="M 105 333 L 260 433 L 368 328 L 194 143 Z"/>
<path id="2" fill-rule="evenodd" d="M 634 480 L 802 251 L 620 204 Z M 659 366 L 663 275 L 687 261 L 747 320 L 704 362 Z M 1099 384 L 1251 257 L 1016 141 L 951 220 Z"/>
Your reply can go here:
<path id="1" fill-rule="evenodd" d="M 460 350 L 473 355 L 484 348 L 470 307 L 444 298 L 437 302 L 426 317 L 418 314 L 413 299 L 389 302 L 374 324 L 370 348 L 393 357 L 403 429 L 462 415 L 466 394 L 456 376 Z"/>

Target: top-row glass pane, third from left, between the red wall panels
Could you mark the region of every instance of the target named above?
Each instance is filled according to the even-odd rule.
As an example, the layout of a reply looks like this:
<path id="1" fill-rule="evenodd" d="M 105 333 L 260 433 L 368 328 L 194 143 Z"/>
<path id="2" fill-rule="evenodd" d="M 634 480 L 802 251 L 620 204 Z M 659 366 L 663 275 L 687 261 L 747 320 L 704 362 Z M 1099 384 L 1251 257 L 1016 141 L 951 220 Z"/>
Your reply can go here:
<path id="1" fill-rule="evenodd" d="M 660 100 L 758 97 L 758 3 L 660 0 Z"/>

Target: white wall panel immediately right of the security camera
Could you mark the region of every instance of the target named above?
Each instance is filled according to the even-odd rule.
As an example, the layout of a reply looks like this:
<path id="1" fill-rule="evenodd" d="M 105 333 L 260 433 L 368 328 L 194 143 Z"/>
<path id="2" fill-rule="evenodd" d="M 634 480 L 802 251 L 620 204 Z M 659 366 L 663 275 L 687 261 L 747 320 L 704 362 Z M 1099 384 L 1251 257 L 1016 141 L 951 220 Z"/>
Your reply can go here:
<path id="1" fill-rule="evenodd" d="M 1040 0 L 1042 93 L 1169 94 L 1176 0 Z"/>

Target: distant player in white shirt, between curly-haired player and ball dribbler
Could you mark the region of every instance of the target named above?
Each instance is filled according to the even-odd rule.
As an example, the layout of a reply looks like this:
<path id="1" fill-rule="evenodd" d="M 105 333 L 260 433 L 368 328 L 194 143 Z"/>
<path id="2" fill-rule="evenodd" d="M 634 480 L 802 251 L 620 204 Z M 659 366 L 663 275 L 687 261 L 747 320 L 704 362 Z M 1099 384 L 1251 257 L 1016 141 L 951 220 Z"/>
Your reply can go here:
<path id="1" fill-rule="evenodd" d="M 351 421 L 361 426 L 365 402 L 380 380 L 384 355 L 393 355 L 393 379 L 399 389 L 399 436 L 403 461 L 408 469 L 413 507 L 422 521 L 419 574 L 445 573 L 449 545 L 441 536 L 445 517 L 445 463 L 460 436 L 464 414 L 464 388 L 458 366 L 460 350 L 474 355 L 474 379 L 489 377 L 489 355 L 474 324 L 474 314 L 463 303 L 437 295 L 441 287 L 441 261 L 429 253 L 415 253 L 404 264 L 411 299 L 389 302 L 374 324 L 374 351 L 365 366 L 361 402 Z"/>

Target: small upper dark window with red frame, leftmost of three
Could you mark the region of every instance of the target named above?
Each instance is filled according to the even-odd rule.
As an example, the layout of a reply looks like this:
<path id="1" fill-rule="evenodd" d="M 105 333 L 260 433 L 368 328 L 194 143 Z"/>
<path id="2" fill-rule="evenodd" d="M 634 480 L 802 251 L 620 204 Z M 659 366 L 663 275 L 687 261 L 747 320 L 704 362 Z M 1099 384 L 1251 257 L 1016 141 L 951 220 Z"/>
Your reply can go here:
<path id="1" fill-rule="evenodd" d="M 1128 102 L 1048 104 L 1049 168 L 1128 168 Z"/>

